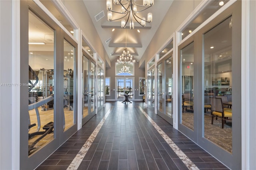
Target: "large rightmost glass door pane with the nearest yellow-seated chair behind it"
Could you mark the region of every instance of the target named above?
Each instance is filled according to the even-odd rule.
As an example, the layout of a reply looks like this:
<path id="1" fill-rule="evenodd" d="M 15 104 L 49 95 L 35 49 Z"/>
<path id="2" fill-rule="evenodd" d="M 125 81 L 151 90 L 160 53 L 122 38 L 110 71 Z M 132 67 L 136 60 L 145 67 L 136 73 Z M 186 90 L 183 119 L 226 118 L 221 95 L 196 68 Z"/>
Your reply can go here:
<path id="1" fill-rule="evenodd" d="M 232 17 L 227 18 L 203 35 L 204 43 L 204 137 L 232 153 Z M 211 48 L 213 47 L 213 48 Z M 211 115 L 222 99 L 224 113 L 231 113 L 228 121 Z M 230 105 L 228 105 L 228 103 Z M 222 113 L 220 113 L 222 115 Z"/>

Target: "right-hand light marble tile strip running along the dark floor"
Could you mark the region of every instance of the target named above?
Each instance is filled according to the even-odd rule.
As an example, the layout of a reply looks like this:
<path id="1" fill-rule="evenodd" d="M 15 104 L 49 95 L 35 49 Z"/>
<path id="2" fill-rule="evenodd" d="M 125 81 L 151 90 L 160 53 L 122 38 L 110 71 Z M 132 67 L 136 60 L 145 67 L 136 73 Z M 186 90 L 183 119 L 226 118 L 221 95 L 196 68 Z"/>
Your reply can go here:
<path id="1" fill-rule="evenodd" d="M 154 126 L 154 128 L 158 131 L 158 133 L 164 138 L 164 140 L 168 143 L 168 145 L 172 148 L 172 150 L 178 155 L 180 160 L 187 166 L 190 170 L 198 170 L 199 168 L 180 150 L 180 148 L 172 141 L 171 138 L 150 118 L 150 116 L 139 107 L 140 111 L 145 115 L 145 117 L 150 121 L 150 123 Z"/>

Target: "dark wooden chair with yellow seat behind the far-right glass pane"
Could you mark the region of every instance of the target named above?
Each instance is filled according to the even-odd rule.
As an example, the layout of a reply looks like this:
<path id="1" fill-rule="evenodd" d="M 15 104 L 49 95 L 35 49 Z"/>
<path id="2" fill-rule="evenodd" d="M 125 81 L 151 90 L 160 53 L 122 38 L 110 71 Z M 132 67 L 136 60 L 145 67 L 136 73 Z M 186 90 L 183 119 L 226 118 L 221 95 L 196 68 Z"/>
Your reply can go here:
<path id="1" fill-rule="evenodd" d="M 222 128 L 224 128 L 224 124 L 227 120 L 232 119 L 232 109 L 224 109 L 222 104 L 222 99 L 220 97 L 210 97 L 211 100 L 211 115 L 212 115 L 212 125 L 213 125 L 213 118 L 218 117 L 222 119 Z M 231 117 L 231 118 L 230 118 Z"/>

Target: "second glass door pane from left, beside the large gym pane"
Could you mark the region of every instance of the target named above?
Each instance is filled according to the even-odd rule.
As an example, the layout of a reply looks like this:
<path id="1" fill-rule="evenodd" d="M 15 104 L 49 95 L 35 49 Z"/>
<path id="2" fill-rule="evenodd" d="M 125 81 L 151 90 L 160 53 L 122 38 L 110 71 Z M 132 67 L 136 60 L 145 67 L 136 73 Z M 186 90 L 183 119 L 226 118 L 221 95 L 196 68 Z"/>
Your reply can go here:
<path id="1" fill-rule="evenodd" d="M 75 121 L 74 114 L 74 47 L 64 40 L 64 115 L 65 115 L 65 128 L 72 127 Z"/>

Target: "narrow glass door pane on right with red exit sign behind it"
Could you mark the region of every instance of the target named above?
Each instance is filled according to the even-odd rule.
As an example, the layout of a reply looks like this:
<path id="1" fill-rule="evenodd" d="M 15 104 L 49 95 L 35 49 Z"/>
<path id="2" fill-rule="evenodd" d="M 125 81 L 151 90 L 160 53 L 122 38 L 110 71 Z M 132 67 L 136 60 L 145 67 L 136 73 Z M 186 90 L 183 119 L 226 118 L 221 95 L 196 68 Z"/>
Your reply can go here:
<path id="1" fill-rule="evenodd" d="M 181 50 L 182 124 L 194 130 L 194 42 Z"/>

